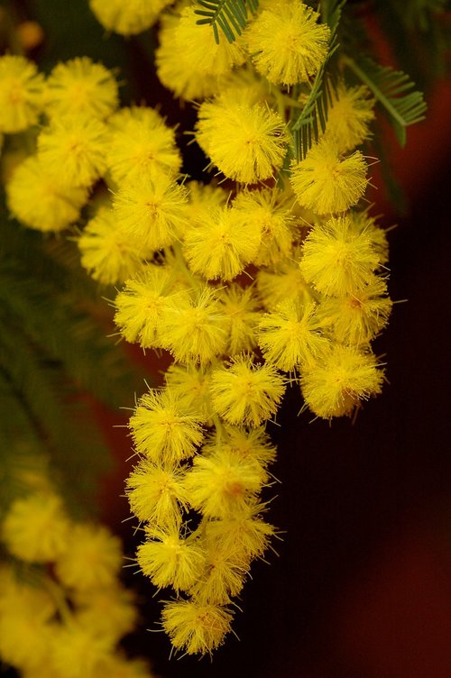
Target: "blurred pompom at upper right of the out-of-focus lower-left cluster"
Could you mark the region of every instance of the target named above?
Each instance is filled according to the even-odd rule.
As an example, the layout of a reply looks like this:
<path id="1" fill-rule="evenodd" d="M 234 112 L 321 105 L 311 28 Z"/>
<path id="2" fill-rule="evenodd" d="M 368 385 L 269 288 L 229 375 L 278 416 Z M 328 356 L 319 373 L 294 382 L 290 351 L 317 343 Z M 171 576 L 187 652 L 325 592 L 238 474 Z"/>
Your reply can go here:
<path id="1" fill-rule="evenodd" d="M 70 545 L 55 570 L 65 586 L 88 591 L 111 586 L 123 563 L 121 543 L 106 527 L 80 523 L 70 530 Z"/>

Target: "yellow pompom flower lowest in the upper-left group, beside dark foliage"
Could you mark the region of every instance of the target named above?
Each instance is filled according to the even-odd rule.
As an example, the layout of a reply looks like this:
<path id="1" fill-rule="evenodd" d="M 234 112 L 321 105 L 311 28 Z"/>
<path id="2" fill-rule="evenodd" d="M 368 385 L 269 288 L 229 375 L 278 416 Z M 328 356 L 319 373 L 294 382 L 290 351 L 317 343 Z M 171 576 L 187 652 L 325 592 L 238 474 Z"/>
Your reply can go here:
<path id="1" fill-rule="evenodd" d="M 12 215 L 38 231 L 62 231 L 76 222 L 87 202 L 86 188 L 61 185 L 38 156 L 32 155 L 15 170 L 5 186 Z"/>

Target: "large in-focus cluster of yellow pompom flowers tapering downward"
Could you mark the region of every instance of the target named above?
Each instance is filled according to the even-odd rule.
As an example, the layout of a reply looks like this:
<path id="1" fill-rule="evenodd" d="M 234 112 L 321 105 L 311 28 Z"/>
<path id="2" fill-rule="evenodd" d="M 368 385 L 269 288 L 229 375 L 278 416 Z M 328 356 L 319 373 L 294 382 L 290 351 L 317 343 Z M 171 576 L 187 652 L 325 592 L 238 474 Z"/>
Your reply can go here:
<path id="1" fill-rule="evenodd" d="M 165 4 L 142 16 L 137 2 L 91 2 L 124 34 Z M 174 591 L 162 625 L 189 654 L 223 642 L 233 598 L 275 535 L 262 497 L 275 458 L 265 426 L 287 384 L 316 417 L 353 415 L 382 389 L 371 342 L 391 312 L 385 234 L 360 202 L 369 178 L 357 146 L 374 102 L 364 87 L 331 85 L 325 129 L 294 158 L 290 116 L 330 30 L 299 0 L 262 5 L 232 44 L 216 44 L 184 2 L 161 15 L 158 76 L 198 100 L 194 140 L 224 184 L 181 176 L 175 131 L 151 107 L 118 109 L 101 65 L 72 60 L 44 82 L 23 58 L 0 60 L 0 129 L 43 122 L 7 179 L 12 215 L 56 232 L 89 201 L 82 265 L 118 289 L 124 339 L 173 359 L 130 419 L 139 461 L 126 488 L 145 536 L 137 562 Z M 63 563 L 57 573 L 69 577 Z"/>

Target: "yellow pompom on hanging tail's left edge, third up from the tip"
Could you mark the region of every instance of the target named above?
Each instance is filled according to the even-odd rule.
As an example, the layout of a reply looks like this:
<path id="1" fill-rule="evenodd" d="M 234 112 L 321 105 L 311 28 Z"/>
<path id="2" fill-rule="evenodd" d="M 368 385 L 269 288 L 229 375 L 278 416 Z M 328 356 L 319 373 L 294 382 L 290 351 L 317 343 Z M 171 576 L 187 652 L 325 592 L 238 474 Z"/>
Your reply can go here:
<path id="1" fill-rule="evenodd" d="M 185 470 L 170 463 L 143 459 L 126 480 L 130 509 L 139 520 L 166 527 L 178 525 L 181 508 L 188 507 Z"/>

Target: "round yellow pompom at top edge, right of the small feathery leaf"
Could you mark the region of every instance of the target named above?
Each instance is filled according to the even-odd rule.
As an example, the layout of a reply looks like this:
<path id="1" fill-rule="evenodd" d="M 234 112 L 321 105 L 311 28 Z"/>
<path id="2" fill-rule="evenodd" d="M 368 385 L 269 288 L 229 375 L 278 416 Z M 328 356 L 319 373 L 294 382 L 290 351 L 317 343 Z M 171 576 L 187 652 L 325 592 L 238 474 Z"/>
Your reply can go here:
<path id="1" fill-rule="evenodd" d="M 273 3 L 246 32 L 255 68 L 274 85 L 296 85 L 314 76 L 327 56 L 330 29 L 299 0 Z"/>

